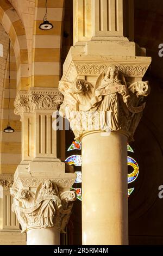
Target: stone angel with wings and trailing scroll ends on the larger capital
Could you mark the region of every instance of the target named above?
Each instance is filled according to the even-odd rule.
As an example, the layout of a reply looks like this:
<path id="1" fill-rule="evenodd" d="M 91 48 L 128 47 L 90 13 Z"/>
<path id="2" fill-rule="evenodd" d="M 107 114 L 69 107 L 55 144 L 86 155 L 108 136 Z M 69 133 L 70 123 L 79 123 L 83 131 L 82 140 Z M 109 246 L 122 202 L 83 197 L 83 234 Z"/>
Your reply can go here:
<path id="1" fill-rule="evenodd" d="M 127 119 L 130 113 L 137 114 L 145 108 L 145 103 L 142 103 L 141 106 L 133 106 L 135 102 L 129 93 L 137 92 L 139 94 L 137 97 L 142 95 L 144 82 L 141 82 L 141 89 L 139 88 L 137 91 L 137 87 L 133 87 L 135 83 L 128 88 L 123 74 L 121 74 L 121 80 L 119 77 L 117 66 L 114 65 L 109 66 L 106 72 L 102 72 L 97 78 L 95 95 L 90 100 L 89 105 L 84 108 L 85 111 L 89 111 L 91 108 L 95 109 L 96 106 L 97 112 L 102 113 L 102 130 L 118 131 L 122 128 L 120 106 Z M 146 94 L 143 93 L 143 96 Z"/>

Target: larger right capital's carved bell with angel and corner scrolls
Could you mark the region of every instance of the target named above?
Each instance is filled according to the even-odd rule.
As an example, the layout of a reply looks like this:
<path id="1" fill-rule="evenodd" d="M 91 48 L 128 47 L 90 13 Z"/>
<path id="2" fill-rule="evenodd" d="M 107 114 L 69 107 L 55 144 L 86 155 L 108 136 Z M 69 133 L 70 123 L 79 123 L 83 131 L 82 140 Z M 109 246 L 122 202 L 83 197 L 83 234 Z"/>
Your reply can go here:
<path id="1" fill-rule="evenodd" d="M 120 72 L 121 65 L 92 67 L 94 74 L 95 70 L 100 72 L 95 86 L 82 79 L 59 82 L 59 90 L 64 95 L 60 114 L 70 121 L 76 139 L 89 131 L 120 131 L 132 140 L 145 108 L 143 97 L 150 93 L 148 82 L 127 82 Z M 133 72 L 131 66 L 128 67 L 126 70 Z M 86 69 L 87 65 L 81 72 L 89 72 L 90 69 Z M 144 71 L 136 66 L 133 74 Z"/>

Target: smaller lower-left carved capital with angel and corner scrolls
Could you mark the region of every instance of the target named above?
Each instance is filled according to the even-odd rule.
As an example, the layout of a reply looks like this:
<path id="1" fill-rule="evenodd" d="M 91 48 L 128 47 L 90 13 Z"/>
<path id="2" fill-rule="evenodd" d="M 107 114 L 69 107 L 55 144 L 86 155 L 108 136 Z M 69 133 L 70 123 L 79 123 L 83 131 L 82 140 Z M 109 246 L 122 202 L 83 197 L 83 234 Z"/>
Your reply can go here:
<path id="1" fill-rule="evenodd" d="M 12 210 L 16 213 L 22 231 L 55 227 L 61 233 L 65 232 L 76 192 L 60 192 L 52 180 L 41 182 L 35 193 L 15 186 L 10 191 L 14 197 Z"/>

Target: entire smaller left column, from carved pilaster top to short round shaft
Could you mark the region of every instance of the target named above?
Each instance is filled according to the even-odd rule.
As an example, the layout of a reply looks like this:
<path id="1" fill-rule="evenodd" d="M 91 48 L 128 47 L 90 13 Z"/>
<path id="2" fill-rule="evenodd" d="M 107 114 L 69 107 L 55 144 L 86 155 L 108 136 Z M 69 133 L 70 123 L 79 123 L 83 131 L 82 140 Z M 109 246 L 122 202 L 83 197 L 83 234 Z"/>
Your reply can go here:
<path id="1" fill-rule="evenodd" d="M 22 121 L 22 162 L 10 191 L 27 245 L 60 245 L 76 200 L 70 191 L 76 174 L 66 173 L 57 157 L 53 113 L 61 102 L 62 95 L 52 88 L 21 91 L 15 100 Z"/>

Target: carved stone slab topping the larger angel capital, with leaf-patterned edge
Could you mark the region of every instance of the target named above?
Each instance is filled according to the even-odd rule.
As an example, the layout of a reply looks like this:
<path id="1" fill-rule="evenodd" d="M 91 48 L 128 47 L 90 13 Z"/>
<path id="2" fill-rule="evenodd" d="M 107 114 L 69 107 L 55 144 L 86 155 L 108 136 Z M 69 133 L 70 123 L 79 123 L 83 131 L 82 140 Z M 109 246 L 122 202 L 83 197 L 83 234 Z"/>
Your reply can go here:
<path id="1" fill-rule="evenodd" d="M 150 57 L 79 56 L 71 55 L 70 51 L 64 64 L 64 75 L 61 80 L 73 81 L 77 76 L 82 75 L 98 76 L 109 65 L 116 65 L 117 70 L 125 77 L 142 78 L 150 64 Z"/>

